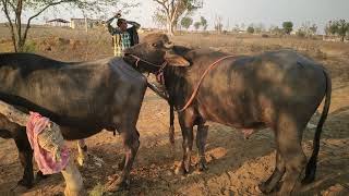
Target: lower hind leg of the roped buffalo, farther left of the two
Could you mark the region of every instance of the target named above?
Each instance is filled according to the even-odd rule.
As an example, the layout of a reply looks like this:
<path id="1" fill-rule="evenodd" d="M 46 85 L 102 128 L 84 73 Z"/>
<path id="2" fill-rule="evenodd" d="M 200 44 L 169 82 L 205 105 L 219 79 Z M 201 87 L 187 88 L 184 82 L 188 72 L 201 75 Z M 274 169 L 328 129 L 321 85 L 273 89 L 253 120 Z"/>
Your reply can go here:
<path id="1" fill-rule="evenodd" d="M 275 166 L 274 172 L 269 176 L 269 179 L 266 182 L 258 185 L 261 192 L 265 194 L 273 192 L 277 183 L 281 180 L 281 177 L 285 174 L 285 162 L 284 162 L 284 159 L 281 158 L 280 152 L 278 152 L 278 150 L 276 151 L 275 164 L 276 166 Z"/>

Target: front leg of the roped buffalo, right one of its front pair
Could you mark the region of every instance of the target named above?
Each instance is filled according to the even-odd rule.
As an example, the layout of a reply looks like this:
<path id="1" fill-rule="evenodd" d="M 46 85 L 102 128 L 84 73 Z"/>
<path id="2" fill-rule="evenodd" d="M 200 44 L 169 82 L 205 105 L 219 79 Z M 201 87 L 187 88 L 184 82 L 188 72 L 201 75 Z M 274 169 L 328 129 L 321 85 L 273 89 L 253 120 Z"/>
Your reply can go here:
<path id="1" fill-rule="evenodd" d="M 207 169 L 206 158 L 205 158 L 205 145 L 207 139 L 208 125 L 200 124 L 197 125 L 196 133 L 196 147 L 198 151 L 198 170 L 204 171 Z"/>

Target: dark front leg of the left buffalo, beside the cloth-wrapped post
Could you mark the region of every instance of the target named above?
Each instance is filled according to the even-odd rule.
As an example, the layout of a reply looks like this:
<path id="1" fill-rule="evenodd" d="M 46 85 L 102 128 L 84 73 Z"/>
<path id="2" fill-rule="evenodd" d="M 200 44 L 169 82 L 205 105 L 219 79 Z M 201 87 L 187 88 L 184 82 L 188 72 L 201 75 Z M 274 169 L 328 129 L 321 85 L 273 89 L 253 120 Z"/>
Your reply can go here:
<path id="1" fill-rule="evenodd" d="M 19 149 L 19 158 L 24 169 L 23 179 L 19 181 L 19 184 L 31 188 L 34 183 L 33 150 L 27 139 L 25 130 L 17 130 L 13 139 Z"/>

